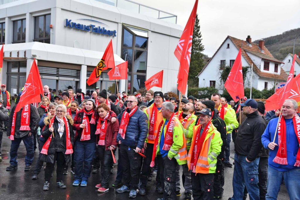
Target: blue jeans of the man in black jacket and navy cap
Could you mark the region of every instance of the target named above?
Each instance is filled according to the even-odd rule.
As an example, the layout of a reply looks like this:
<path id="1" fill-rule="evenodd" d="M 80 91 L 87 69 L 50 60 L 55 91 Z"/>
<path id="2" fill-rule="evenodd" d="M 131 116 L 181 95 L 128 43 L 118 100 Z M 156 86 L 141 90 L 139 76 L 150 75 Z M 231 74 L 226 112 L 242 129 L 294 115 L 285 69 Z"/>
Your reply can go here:
<path id="1" fill-rule="evenodd" d="M 253 162 L 247 162 L 246 156 L 238 156 L 235 153 L 232 180 L 233 197 L 231 200 L 243 199 L 245 186 L 250 200 L 259 200 L 258 163 L 259 157 Z"/>

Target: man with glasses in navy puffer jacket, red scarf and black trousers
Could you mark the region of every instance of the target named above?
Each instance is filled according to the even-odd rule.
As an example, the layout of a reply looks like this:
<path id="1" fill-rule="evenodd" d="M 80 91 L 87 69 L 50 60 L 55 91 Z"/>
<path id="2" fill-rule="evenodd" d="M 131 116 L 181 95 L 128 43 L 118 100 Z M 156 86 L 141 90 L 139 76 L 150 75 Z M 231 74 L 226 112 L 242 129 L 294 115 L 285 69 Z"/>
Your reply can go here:
<path id="1" fill-rule="evenodd" d="M 141 156 L 138 154 L 148 134 L 148 118 L 137 106 L 137 97 L 129 95 L 127 108 L 118 115 L 120 129 L 117 141 L 123 168 L 124 185 L 116 192 L 129 192 L 129 198 L 137 196 L 140 181 Z"/>

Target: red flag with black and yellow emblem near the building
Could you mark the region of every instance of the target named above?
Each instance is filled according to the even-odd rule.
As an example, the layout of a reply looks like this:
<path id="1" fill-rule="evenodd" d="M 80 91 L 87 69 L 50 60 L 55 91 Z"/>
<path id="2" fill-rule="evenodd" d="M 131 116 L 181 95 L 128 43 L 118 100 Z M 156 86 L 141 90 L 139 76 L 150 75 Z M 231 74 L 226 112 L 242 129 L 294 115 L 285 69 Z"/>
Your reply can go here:
<path id="1" fill-rule="evenodd" d="M 99 61 L 98 65 L 94 68 L 93 72 L 91 73 L 90 77 L 86 81 L 88 85 L 96 83 L 99 80 L 100 74 L 103 70 L 107 68 L 114 68 L 115 67 L 115 59 L 113 57 L 113 43 L 110 40 L 108 43 L 102 59 Z"/>

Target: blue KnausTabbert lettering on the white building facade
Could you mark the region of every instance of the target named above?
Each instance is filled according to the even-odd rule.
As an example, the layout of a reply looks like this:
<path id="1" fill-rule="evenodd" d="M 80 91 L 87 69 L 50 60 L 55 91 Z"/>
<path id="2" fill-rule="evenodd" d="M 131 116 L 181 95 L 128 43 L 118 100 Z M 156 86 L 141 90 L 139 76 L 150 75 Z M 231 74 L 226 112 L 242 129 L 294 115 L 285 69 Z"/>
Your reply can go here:
<path id="1" fill-rule="evenodd" d="M 104 27 L 100 27 L 100 26 L 96 27 L 95 25 L 79 24 L 79 23 L 72 22 L 72 20 L 68 20 L 68 19 L 66 19 L 65 27 L 69 27 L 71 29 L 78 29 L 86 32 L 98 33 L 101 35 L 108 35 L 113 37 L 117 36 L 116 30 L 107 30 Z"/>

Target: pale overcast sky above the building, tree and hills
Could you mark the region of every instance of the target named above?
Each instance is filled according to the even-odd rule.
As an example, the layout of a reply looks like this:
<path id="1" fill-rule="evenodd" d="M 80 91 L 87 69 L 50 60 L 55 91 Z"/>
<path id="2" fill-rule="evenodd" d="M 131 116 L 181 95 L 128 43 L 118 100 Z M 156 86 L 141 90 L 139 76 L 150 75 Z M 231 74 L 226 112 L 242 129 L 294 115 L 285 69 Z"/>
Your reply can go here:
<path id="1" fill-rule="evenodd" d="M 133 0 L 177 15 L 185 26 L 195 0 Z M 212 56 L 227 35 L 252 41 L 300 27 L 299 0 L 199 0 L 204 53 Z M 300 32 L 299 32 L 300 33 Z"/>

